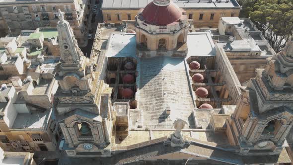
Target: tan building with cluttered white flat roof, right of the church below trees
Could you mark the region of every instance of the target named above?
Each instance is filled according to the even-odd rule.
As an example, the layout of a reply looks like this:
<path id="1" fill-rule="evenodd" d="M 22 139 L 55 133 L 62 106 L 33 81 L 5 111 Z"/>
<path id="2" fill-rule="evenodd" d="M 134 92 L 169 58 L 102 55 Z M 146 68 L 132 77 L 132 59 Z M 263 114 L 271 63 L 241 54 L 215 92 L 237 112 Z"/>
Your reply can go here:
<path id="1" fill-rule="evenodd" d="M 224 49 L 240 83 L 254 78 L 255 69 L 266 68 L 276 54 L 249 18 L 222 17 L 218 27 L 213 39 Z"/>

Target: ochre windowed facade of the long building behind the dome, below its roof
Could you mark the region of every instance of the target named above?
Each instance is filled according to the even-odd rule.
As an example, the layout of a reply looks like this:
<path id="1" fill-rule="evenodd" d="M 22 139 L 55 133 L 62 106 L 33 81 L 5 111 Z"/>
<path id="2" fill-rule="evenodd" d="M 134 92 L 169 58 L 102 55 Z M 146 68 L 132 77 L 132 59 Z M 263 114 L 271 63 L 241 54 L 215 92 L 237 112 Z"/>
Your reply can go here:
<path id="1" fill-rule="evenodd" d="M 140 0 L 141 4 L 147 4 L 147 0 Z M 176 2 L 176 1 L 175 1 Z M 235 0 L 231 0 L 229 3 L 235 2 Z M 135 20 L 135 16 L 138 15 L 141 12 L 141 8 L 144 8 L 145 6 L 141 7 L 128 7 L 128 8 L 122 8 L 121 6 L 109 6 L 107 4 L 109 2 L 105 1 L 102 5 L 102 13 L 103 13 L 103 19 L 106 23 L 121 23 L 123 20 Z M 116 2 L 115 4 L 118 4 Z M 185 15 L 189 19 L 194 20 L 194 27 L 200 28 L 200 27 L 218 27 L 218 22 L 220 17 L 223 16 L 239 16 L 240 12 L 240 6 L 239 4 L 231 7 L 221 7 L 217 6 L 217 3 L 225 3 L 225 1 L 218 1 L 216 3 L 216 7 L 200 7 L 201 4 L 204 6 L 208 3 L 208 1 L 190 1 L 189 6 L 188 3 L 184 2 L 185 6 L 180 6 L 185 10 Z M 196 5 L 199 5 L 199 7 L 195 7 L 196 5 L 193 5 L 193 3 L 197 3 Z M 214 2 L 212 2 L 214 3 Z M 212 4 L 211 3 L 211 4 Z M 209 5 L 209 3 L 208 3 Z M 202 16 L 201 16 L 202 14 Z M 213 15 L 213 16 L 212 16 Z"/>

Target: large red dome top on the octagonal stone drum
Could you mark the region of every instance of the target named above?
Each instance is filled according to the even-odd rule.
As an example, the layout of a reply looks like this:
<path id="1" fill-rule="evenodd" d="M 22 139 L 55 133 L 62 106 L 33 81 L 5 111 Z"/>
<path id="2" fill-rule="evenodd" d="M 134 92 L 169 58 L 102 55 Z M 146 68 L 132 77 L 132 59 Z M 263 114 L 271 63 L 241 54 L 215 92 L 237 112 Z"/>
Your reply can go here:
<path id="1" fill-rule="evenodd" d="M 182 11 L 173 2 L 164 6 L 150 2 L 143 10 L 143 17 L 149 24 L 167 25 L 178 21 L 182 17 Z"/>

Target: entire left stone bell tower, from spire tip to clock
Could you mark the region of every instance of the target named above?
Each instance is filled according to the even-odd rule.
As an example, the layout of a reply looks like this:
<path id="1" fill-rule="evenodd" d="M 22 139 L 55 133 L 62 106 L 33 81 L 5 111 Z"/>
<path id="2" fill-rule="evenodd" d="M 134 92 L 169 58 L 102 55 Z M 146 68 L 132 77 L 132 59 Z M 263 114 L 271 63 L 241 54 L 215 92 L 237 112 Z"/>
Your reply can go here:
<path id="1" fill-rule="evenodd" d="M 56 67 L 59 90 L 54 97 L 65 151 L 68 157 L 109 157 L 111 90 L 99 90 L 107 86 L 95 80 L 98 72 L 78 48 L 64 13 L 59 10 L 58 16 L 61 63 Z"/>

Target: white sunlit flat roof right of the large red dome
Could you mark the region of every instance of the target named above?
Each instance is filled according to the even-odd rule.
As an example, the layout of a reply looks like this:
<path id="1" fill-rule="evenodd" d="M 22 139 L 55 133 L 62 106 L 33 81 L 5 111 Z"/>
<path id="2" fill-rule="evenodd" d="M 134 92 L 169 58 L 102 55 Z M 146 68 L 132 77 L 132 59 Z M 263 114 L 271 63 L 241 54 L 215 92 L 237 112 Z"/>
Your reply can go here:
<path id="1" fill-rule="evenodd" d="M 216 56 L 216 48 L 209 32 L 192 32 L 187 35 L 187 57 Z"/>

